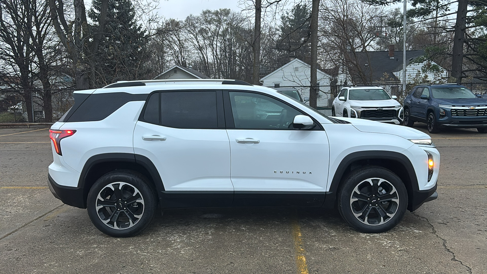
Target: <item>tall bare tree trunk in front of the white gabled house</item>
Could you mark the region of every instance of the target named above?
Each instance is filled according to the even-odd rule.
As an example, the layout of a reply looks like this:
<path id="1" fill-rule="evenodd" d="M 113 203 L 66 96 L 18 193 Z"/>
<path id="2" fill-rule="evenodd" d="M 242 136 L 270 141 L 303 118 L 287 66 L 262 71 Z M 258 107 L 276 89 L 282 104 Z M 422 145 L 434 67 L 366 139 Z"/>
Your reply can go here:
<path id="1" fill-rule="evenodd" d="M 318 67 L 318 8 L 319 0 L 313 0 L 311 7 L 311 22 L 309 26 L 311 33 L 311 87 L 309 89 L 309 106 L 315 109 L 317 106 L 316 71 Z"/>

